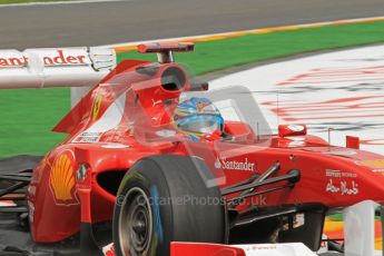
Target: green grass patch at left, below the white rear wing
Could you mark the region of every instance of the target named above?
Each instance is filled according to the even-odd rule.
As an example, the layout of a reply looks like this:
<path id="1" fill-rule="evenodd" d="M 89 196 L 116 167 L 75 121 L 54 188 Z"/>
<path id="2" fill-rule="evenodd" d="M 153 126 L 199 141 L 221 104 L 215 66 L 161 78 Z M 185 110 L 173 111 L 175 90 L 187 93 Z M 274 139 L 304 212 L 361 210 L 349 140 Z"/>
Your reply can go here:
<path id="1" fill-rule="evenodd" d="M 42 155 L 65 138 L 50 131 L 70 108 L 70 90 L 0 91 L 0 156 Z"/>

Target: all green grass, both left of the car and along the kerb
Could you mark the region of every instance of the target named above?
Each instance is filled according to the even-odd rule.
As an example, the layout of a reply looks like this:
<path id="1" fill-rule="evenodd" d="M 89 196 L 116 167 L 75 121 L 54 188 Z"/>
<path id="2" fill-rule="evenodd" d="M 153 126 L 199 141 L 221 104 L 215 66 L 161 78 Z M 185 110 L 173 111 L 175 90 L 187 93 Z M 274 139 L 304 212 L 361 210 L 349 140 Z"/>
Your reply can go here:
<path id="1" fill-rule="evenodd" d="M 197 75 L 203 75 L 303 52 L 377 42 L 384 42 L 384 21 L 246 35 L 199 42 L 195 52 L 177 53 L 176 59 L 187 63 Z M 119 53 L 118 60 L 122 59 L 156 60 L 156 56 L 130 51 Z M 47 152 L 63 138 L 63 135 L 49 130 L 68 110 L 68 88 L 0 91 L 0 156 Z"/>

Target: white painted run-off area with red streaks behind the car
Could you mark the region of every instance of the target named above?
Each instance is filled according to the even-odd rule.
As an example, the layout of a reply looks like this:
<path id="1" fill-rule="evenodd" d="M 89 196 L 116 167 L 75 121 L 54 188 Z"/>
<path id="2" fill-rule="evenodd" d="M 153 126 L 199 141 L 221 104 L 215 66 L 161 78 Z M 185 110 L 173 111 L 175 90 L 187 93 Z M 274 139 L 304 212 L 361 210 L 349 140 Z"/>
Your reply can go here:
<path id="1" fill-rule="evenodd" d="M 259 66 L 209 82 L 216 89 L 245 86 L 272 128 L 305 124 L 308 134 L 384 155 L 384 45 Z M 275 130 L 274 130 L 275 131 Z M 277 130 L 276 130 L 277 131 Z"/>

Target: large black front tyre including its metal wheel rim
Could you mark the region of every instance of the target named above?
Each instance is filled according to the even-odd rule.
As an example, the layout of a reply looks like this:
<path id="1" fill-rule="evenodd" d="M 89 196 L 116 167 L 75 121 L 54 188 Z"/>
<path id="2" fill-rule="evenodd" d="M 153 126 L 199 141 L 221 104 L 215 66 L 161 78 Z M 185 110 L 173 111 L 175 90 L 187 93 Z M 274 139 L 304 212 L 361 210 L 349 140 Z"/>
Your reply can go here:
<path id="1" fill-rule="evenodd" d="M 127 171 L 114 211 L 118 256 L 169 255 L 170 242 L 225 242 L 220 191 L 206 186 L 197 163 L 211 177 L 201 160 L 171 155 L 144 158 Z"/>

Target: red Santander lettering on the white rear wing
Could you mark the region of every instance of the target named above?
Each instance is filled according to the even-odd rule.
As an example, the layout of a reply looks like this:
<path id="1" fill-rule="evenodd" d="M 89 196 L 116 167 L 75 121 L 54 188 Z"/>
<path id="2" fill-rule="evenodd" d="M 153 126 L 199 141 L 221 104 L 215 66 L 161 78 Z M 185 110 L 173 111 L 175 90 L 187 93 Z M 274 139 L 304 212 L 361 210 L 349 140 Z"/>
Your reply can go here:
<path id="1" fill-rule="evenodd" d="M 45 67 L 90 65 L 87 52 L 80 49 L 49 49 L 39 50 L 38 53 Z M 10 50 L 3 55 L 0 53 L 0 68 L 22 68 L 27 67 L 28 62 L 28 51 L 18 52 Z"/>

